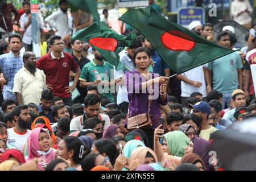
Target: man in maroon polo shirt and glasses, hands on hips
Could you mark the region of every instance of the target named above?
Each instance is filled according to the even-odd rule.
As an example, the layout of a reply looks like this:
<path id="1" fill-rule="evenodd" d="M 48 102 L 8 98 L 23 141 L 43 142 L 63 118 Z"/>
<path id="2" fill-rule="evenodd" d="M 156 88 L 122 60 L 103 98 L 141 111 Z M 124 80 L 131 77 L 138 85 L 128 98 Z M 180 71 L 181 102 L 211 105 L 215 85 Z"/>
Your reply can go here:
<path id="1" fill-rule="evenodd" d="M 81 70 L 73 57 L 63 52 L 64 42 L 60 36 L 53 36 L 49 44 L 52 52 L 40 57 L 36 67 L 44 71 L 47 88 L 52 89 L 54 96 L 61 97 L 65 105 L 71 106 L 71 93 L 76 88 Z M 70 71 L 76 73 L 72 86 L 68 86 Z"/>

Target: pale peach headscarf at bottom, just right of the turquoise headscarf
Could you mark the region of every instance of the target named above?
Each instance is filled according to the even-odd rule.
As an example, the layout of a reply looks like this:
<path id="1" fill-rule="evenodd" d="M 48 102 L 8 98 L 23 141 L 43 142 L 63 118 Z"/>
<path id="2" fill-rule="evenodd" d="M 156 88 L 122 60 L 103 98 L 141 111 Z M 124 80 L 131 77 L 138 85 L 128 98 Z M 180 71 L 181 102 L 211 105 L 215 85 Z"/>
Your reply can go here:
<path id="1" fill-rule="evenodd" d="M 137 147 L 133 152 L 131 152 L 130 160 L 133 161 L 135 159 L 139 159 L 141 161 L 141 164 L 145 163 L 145 158 L 147 155 L 147 152 L 150 152 L 150 154 L 154 157 L 155 162 L 158 162 L 158 158 L 155 155 L 155 152 L 148 147 Z"/>

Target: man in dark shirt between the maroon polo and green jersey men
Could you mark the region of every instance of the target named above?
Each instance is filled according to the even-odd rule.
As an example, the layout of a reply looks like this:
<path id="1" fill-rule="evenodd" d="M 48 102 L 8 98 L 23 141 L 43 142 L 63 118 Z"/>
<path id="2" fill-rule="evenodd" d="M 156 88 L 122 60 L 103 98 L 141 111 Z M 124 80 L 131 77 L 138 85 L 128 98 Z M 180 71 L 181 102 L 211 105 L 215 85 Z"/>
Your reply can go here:
<path id="1" fill-rule="evenodd" d="M 71 47 L 73 49 L 72 56 L 75 59 L 76 63 L 79 65 L 81 70 L 85 64 L 90 62 L 90 60 L 87 57 L 84 57 L 82 55 L 82 43 L 83 42 L 80 40 L 71 39 Z M 72 80 L 75 78 L 75 73 L 71 72 L 71 73 L 69 73 L 69 75 L 71 76 Z M 79 102 L 82 103 L 82 102 L 84 102 L 84 98 L 87 95 L 87 89 L 81 88 L 80 80 L 77 82 L 76 88 L 77 88 L 77 90 L 79 90 L 80 96 L 77 97 L 76 100 L 73 102 L 74 103 L 79 103 Z"/>

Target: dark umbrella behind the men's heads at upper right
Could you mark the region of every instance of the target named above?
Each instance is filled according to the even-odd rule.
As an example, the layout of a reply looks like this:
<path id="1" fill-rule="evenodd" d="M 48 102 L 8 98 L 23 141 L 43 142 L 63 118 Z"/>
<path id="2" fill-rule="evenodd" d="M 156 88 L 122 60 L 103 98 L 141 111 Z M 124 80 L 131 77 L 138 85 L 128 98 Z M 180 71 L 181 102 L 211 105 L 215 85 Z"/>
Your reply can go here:
<path id="1" fill-rule="evenodd" d="M 213 24 L 214 40 L 216 40 L 218 32 L 222 31 L 222 28 L 228 25 L 234 27 L 235 34 L 237 36 L 236 46 L 245 47 L 245 36 L 248 34 L 249 31 L 245 27 L 241 26 L 241 24 L 233 20 L 218 20 L 216 23 Z"/>

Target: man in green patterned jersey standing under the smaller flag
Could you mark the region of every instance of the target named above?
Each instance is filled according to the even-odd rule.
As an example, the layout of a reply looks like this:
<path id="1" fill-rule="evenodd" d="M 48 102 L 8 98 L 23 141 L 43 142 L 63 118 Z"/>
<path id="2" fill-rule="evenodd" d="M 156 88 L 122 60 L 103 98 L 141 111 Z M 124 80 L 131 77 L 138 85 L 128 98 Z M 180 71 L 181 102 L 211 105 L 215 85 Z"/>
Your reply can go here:
<path id="1" fill-rule="evenodd" d="M 84 68 L 82 68 L 79 78 L 80 86 L 87 87 L 89 85 L 97 85 L 101 98 L 107 97 L 110 101 L 114 102 L 113 94 L 110 93 L 110 85 L 114 84 L 113 65 L 104 61 L 104 57 L 101 55 L 101 53 L 96 51 L 94 48 L 92 52 L 94 59 L 85 64 Z M 97 74 L 99 74 L 100 77 L 96 78 Z"/>

